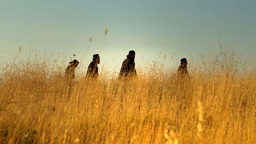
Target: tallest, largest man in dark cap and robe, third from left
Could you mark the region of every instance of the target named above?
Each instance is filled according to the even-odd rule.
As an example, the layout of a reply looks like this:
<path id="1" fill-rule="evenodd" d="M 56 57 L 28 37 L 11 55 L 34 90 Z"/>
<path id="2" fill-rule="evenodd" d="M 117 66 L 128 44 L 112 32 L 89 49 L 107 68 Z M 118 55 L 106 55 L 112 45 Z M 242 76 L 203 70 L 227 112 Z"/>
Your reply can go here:
<path id="1" fill-rule="evenodd" d="M 123 61 L 122 67 L 119 73 L 119 78 L 122 76 L 127 77 L 127 76 L 137 76 L 137 72 L 135 69 L 135 51 L 130 50 L 129 54 L 126 56 L 127 58 Z"/>

